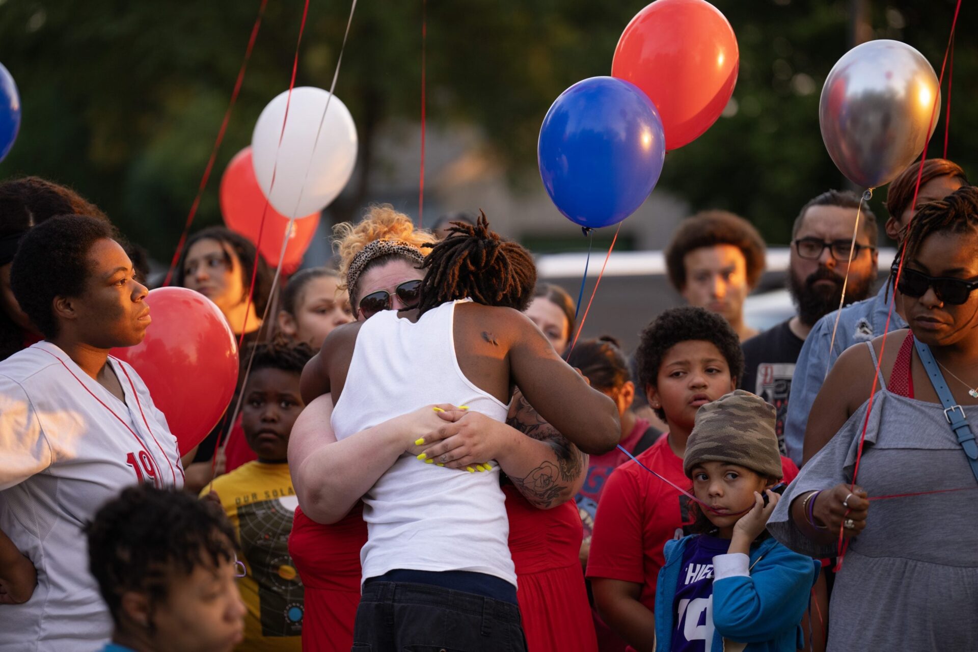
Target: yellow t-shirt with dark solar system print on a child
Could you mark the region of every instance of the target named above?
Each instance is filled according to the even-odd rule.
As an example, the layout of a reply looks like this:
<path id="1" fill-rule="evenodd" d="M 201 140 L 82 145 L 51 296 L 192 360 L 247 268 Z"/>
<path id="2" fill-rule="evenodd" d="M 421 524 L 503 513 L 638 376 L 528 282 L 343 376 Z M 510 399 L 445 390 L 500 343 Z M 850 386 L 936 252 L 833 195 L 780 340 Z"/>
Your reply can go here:
<path id="1" fill-rule="evenodd" d="M 238 581 L 247 615 L 237 650 L 299 652 L 304 606 L 302 581 L 289 557 L 298 505 L 289 464 L 247 462 L 215 479 L 212 488 L 238 533 L 246 571 Z"/>

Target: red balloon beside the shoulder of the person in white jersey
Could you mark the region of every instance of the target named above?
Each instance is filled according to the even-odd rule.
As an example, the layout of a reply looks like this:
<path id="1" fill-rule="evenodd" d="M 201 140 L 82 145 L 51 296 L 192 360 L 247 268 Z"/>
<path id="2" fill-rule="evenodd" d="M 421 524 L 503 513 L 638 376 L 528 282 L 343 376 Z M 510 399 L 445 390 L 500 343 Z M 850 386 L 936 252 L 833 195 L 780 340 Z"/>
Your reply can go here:
<path id="1" fill-rule="evenodd" d="M 146 297 L 153 323 L 136 346 L 113 349 L 139 373 L 185 455 L 227 410 L 238 382 L 238 343 L 210 299 L 186 287 Z"/>

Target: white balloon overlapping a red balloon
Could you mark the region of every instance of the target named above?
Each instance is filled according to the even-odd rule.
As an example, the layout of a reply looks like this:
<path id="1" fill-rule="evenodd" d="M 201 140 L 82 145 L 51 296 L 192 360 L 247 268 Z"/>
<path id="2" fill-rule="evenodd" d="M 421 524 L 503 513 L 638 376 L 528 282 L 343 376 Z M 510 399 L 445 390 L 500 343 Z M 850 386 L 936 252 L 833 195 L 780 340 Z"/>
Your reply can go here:
<path id="1" fill-rule="evenodd" d="M 287 217 L 305 217 L 323 210 L 353 174 L 357 160 L 356 125 L 349 109 L 335 96 L 324 118 L 323 109 L 329 98 L 330 93 L 321 88 L 294 88 L 290 100 L 286 91 L 268 103 L 254 125 L 254 176 L 272 206 Z M 287 101 L 289 121 L 283 135 Z"/>

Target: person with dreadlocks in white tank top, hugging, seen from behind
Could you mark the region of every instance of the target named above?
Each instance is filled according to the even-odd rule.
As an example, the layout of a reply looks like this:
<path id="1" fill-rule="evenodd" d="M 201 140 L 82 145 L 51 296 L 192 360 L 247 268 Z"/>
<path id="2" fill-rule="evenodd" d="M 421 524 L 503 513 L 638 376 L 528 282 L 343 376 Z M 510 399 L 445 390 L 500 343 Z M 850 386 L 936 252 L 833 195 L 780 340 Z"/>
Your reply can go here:
<path id="1" fill-rule="evenodd" d="M 364 500 L 369 539 L 354 646 L 522 650 L 504 494 L 492 471 L 502 465 L 532 479 L 535 460 L 520 454 L 544 443 L 512 437 L 508 447 L 433 458 L 424 450 L 450 430 L 502 421 L 513 385 L 586 453 L 613 446 L 617 412 L 521 314 L 533 261 L 489 231 L 484 216 L 453 229 L 423 266 L 417 309 L 340 326 L 307 366 L 304 375 L 319 376 L 335 401 L 313 412 L 333 426 L 320 437 L 338 441 L 300 456 L 300 473 L 319 482 L 296 482 L 296 493 L 327 521 Z M 538 488 L 581 463 L 562 455 L 537 472 Z"/>

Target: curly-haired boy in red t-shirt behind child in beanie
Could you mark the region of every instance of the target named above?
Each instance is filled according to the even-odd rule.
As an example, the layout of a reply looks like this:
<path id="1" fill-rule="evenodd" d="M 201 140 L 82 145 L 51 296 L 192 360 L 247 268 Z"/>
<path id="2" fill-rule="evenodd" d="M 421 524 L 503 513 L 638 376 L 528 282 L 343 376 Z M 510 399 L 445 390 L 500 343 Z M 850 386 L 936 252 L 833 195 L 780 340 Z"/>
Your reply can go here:
<path id="1" fill-rule="evenodd" d="M 740 342 L 727 321 L 703 308 L 673 308 L 642 332 L 636 351 L 648 404 L 669 431 L 647 451 L 619 466 L 598 503 L 587 576 L 604 622 L 629 643 L 651 650 L 655 641 L 655 586 L 663 548 L 688 535 L 689 498 L 655 477 L 689 491 L 683 456 L 696 411 L 733 392 L 743 371 Z M 784 482 L 798 473 L 781 458 Z"/>

